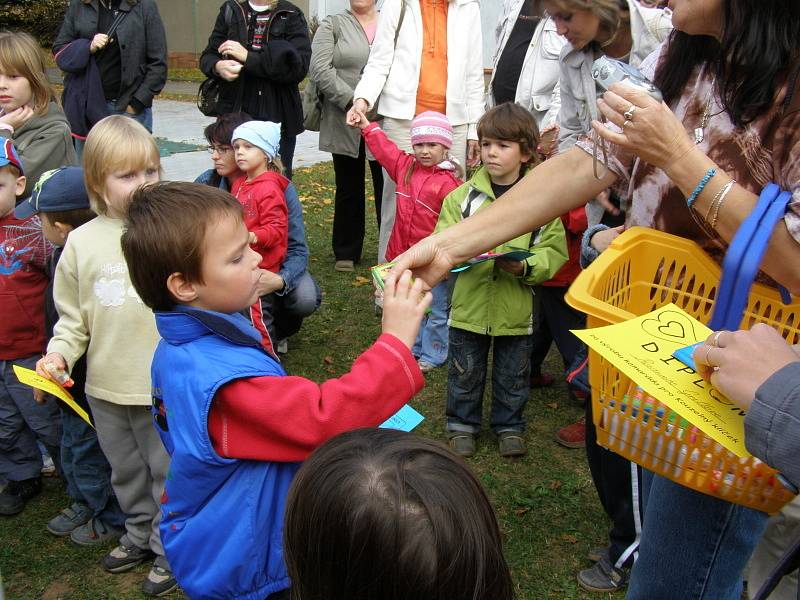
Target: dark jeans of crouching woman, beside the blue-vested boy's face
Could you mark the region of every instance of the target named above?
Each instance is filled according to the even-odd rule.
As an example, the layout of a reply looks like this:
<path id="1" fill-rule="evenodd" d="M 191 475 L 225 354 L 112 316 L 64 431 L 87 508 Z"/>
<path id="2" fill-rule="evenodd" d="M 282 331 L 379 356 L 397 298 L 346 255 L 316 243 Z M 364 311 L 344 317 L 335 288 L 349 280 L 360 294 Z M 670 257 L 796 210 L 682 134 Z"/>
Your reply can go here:
<path id="1" fill-rule="evenodd" d="M 322 303 L 319 285 L 306 271 L 292 291 L 283 296 L 267 294 L 261 297 L 261 314 L 273 343 L 300 331 L 303 319 L 313 314 Z"/>

